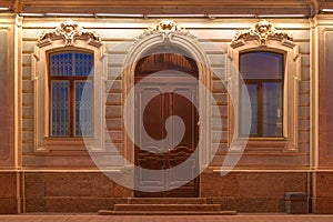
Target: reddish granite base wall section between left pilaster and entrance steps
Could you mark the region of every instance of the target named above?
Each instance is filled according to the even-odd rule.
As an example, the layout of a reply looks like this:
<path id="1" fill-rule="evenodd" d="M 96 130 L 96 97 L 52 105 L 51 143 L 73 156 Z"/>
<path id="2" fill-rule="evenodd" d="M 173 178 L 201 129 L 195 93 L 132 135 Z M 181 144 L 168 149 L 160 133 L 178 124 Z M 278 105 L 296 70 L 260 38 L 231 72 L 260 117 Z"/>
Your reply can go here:
<path id="1" fill-rule="evenodd" d="M 98 212 L 125 203 L 132 191 L 102 173 L 24 173 L 24 212 Z"/>

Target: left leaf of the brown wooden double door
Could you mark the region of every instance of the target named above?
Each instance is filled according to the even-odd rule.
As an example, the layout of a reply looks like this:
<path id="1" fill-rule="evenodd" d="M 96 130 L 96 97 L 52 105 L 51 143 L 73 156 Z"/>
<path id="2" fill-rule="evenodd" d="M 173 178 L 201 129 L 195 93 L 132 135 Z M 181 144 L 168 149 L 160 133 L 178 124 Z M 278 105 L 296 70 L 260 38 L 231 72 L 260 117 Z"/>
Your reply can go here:
<path id="1" fill-rule="evenodd" d="M 135 137 L 141 147 L 141 149 L 135 147 L 135 164 L 140 167 L 135 172 L 135 186 L 140 190 L 155 191 L 165 183 L 165 175 L 161 171 L 165 169 L 164 153 L 160 153 L 162 148 L 144 140 L 141 132 L 143 125 L 147 133 L 154 140 L 164 138 L 163 124 L 167 114 L 163 88 L 164 85 L 161 84 L 148 84 L 135 89 Z M 158 97 L 154 97 L 155 94 Z M 151 102 L 149 102 L 150 98 L 153 98 Z M 144 109 L 147 102 L 149 103 Z M 143 113 L 143 118 L 140 117 L 141 113 Z M 143 171 L 142 169 L 153 171 Z"/>

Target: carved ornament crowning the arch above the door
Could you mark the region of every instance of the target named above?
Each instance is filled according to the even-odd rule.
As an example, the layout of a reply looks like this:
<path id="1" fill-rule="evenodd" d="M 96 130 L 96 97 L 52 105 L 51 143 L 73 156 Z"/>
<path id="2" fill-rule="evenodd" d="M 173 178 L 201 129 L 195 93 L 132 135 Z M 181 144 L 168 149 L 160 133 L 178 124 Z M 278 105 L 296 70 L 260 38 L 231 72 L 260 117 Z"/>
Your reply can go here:
<path id="1" fill-rule="evenodd" d="M 174 33 L 188 36 L 195 39 L 195 37 L 192 33 L 190 33 L 189 30 L 179 27 L 175 21 L 165 19 L 160 21 L 157 26 L 150 27 L 147 30 L 144 30 L 144 32 L 137 38 L 137 41 L 152 34 L 162 34 L 165 38 L 171 38 L 171 36 Z"/>

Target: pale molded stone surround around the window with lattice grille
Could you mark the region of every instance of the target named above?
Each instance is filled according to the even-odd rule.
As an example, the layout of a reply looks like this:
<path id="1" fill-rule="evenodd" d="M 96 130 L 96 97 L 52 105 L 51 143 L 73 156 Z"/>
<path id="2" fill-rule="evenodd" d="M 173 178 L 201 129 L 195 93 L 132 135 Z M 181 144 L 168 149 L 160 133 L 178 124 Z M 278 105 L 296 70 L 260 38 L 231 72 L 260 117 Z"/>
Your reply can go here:
<path id="1" fill-rule="evenodd" d="M 50 137 L 49 54 L 61 51 L 85 51 L 93 54 L 93 134 L 90 138 Z M 34 84 L 34 152 L 103 151 L 104 148 L 104 88 L 108 70 L 107 50 L 87 39 L 77 39 L 71 46 L 59 38 L 34 47 L 31 54 L 31 78 Z"/>

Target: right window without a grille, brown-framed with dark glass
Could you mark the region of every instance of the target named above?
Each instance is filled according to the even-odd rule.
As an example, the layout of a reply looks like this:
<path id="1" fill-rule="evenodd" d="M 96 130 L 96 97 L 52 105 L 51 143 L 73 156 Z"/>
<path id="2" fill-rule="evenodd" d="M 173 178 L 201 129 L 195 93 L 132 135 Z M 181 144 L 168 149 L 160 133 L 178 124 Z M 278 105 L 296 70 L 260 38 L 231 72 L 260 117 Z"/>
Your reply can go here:
<path id="1" fill-rule="evenodd" d="M 240 54 L 240 72 L 243 84 L 240 85 L 240 135 L 246 132 L 242 122 L 251 109 L 250 137 L 283 137 L 283 79 L 284 57 L 268 51 Z M 250 98 L 245 101 L 244 93 Z"/>

